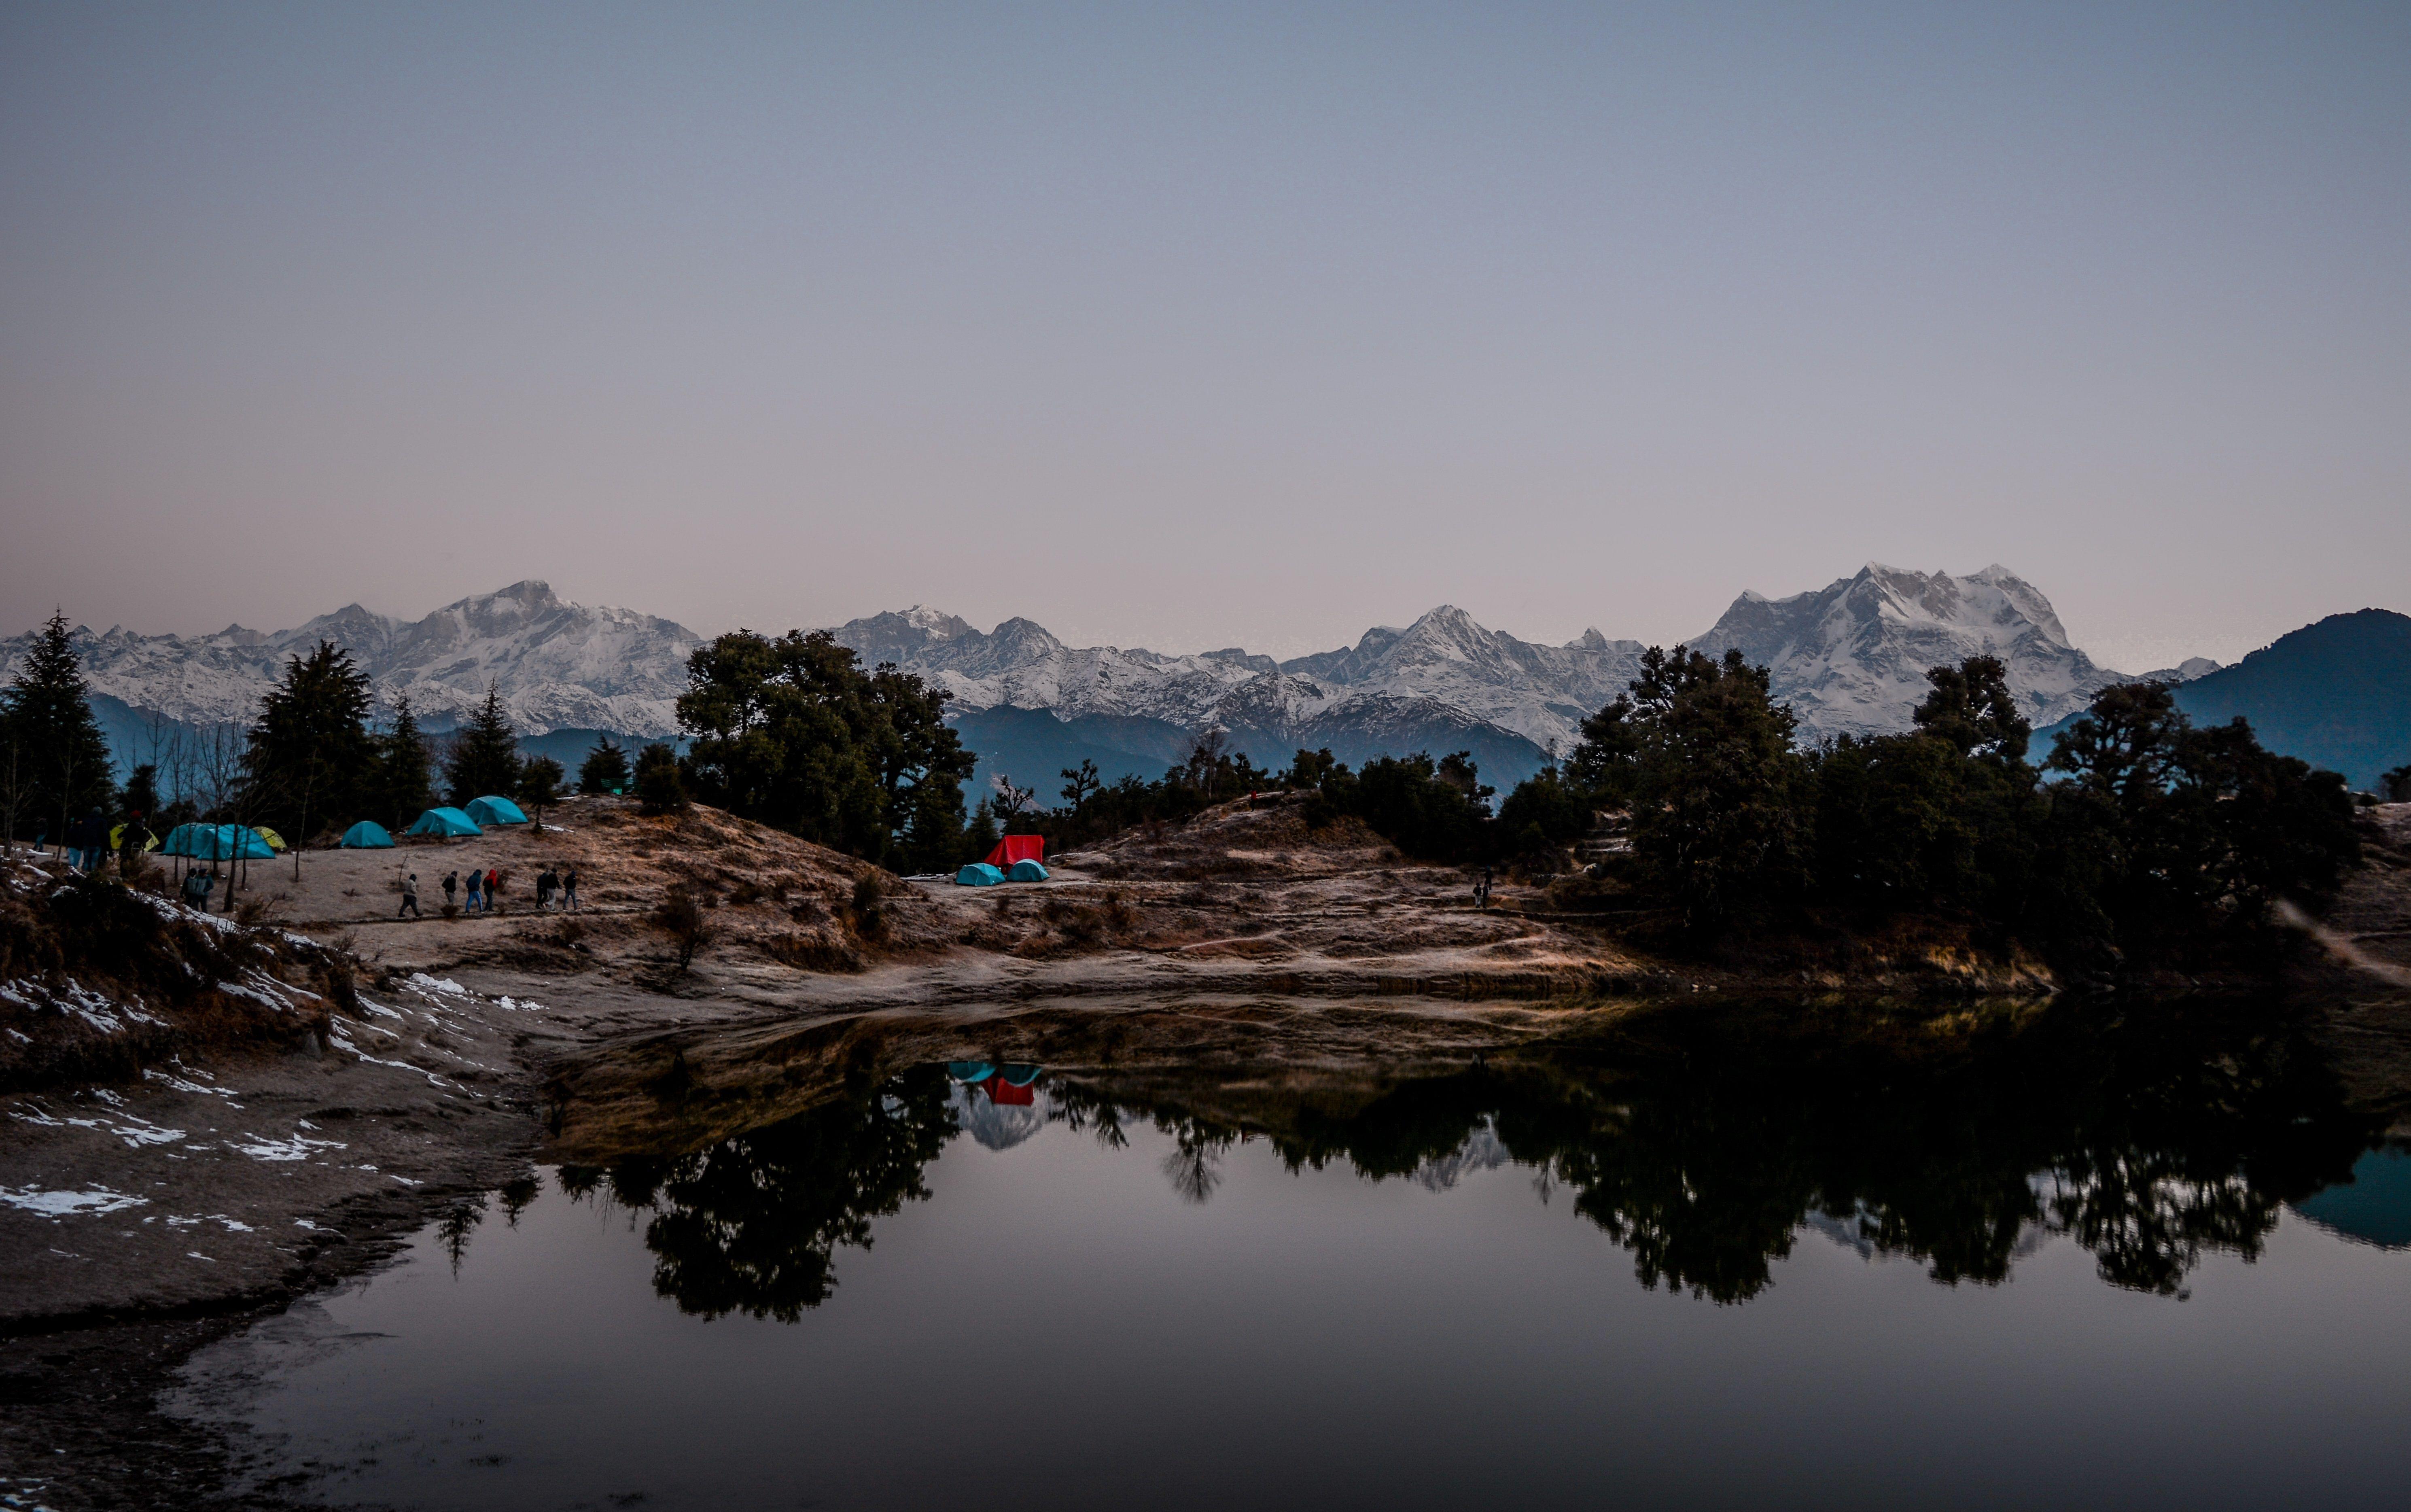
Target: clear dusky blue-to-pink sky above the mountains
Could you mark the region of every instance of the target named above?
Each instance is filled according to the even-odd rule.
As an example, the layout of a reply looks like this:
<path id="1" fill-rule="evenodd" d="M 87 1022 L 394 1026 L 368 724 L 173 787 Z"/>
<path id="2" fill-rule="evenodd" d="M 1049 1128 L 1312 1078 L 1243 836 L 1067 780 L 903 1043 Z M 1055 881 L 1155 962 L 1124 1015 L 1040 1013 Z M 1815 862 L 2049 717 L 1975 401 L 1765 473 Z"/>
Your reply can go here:
<path id="1" fill-rule="evenodd" d="M 2406 5 L 0 7 L 0 634 L 2411 610 Z"/>

